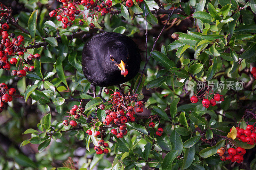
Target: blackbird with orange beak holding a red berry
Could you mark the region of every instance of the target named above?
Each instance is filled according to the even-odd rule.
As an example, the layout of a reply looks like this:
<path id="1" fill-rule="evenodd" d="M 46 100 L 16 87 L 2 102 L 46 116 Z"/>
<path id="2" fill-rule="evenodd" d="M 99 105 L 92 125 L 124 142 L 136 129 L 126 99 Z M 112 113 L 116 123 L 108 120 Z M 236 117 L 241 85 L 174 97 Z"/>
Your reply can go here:
<path id="1" fill-rule="evenodd" d="M 96 34 L 84 44 L 82 51 L 83 73 L 91 83 L 94 97 L 96 86 L 119 85 L 131 80 L 138 73 L 140 62 L 137 44 L 119 33 Z"/>

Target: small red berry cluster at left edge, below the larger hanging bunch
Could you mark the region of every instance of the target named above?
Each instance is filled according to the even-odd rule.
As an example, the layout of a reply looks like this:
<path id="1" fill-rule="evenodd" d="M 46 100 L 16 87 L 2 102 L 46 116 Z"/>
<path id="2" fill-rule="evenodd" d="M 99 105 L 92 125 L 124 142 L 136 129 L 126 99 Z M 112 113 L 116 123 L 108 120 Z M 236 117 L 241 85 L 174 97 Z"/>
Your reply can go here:
<path id="1" fill-rule="evenodd" d="M 11 88 L 8 90 L 5 83 L 0 83 L 0 113 L 3 112 L 4 104 L 12 101 L 12 96 L 15 95 L 15 93 L 16 89 Z"/>

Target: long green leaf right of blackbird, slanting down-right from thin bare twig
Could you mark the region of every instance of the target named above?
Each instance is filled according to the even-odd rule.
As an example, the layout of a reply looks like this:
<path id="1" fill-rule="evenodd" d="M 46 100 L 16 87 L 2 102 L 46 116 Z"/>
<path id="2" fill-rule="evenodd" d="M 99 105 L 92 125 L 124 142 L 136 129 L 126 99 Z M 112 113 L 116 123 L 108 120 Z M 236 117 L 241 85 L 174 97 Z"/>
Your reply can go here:
<path id="1" fill-rule="evenodd" d="M 167 58 L 163 53 L 160 51 L 153 51 L 151 52 L 153 58 L 160 62 L 166 69 L 170 69 L 172 67 L 175 67 L 175 64 L 172 60 Z"/>

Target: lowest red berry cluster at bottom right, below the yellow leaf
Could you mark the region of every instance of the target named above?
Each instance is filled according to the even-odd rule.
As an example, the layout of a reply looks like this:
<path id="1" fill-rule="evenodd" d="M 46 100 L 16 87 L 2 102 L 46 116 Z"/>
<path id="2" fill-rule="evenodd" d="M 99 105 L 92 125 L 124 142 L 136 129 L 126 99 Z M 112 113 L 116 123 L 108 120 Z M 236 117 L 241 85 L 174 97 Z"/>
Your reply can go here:
<path id="1" fill-rule="evenodd" d="M 220 155 L 220 160 L 230 160 L 231 162 L 241 163 L 244 161 L 244 154 L 246 153 L 244 148 L 237 147 L 228 148 L 228 151 L 221 147 L 218 149 L 217 153 Z"/>

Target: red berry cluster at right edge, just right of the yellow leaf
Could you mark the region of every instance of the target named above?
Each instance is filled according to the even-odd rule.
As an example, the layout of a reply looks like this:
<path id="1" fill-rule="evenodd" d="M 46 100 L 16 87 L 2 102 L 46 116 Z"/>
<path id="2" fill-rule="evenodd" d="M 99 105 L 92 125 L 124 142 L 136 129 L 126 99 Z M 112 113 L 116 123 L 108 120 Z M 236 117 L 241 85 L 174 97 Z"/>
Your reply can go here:
<path id="1" fill-rule="evenodd" d="M 253 145 L 256 142 L 256 133 L 253 125 L 247 125 L 246 129 L 236 127 L 236 130 L 236 137 L 242 142 L 245 142 L 249 145 Z"/>

